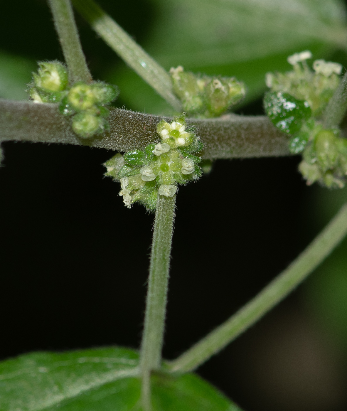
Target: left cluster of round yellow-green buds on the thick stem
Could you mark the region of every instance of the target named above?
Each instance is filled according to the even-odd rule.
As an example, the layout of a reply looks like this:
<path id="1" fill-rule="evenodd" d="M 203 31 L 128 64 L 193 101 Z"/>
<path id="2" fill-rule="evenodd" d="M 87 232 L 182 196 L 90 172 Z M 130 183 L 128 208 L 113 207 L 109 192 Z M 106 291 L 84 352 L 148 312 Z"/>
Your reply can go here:
<path id="1" fill-rule="evenodd" d="M 58 61 L 39 62 L 28 85 L 35 103 L 58 103 L 60 113 L 72 116 L 72 129 L 87 139 L 109 130 L 109 104 L 118 96 L 118 87 L 101 81 L 68 85 L 65 65 Z"/>

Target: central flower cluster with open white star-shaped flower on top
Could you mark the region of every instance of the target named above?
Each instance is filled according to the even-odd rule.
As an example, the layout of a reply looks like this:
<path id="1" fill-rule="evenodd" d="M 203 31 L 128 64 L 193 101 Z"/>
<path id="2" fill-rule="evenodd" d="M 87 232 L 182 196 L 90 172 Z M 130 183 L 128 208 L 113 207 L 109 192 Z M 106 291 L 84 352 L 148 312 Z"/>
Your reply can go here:
<path id="1" fill-rule="evenodd" d="M 155 210 L 157 196 L 173 197 L 178 185 L 185 185 L 201 176 L 199 152 L 203 143 L 193 128 L 186 128 L 185 117 L 171 124 L 162 120 L 157 125 L 161 141 L 148 144 L 144 150 L 116 154 L 104 165 L 106 176 L 120 182 L 120 196 L 131 208 L 139 202 Z"/>

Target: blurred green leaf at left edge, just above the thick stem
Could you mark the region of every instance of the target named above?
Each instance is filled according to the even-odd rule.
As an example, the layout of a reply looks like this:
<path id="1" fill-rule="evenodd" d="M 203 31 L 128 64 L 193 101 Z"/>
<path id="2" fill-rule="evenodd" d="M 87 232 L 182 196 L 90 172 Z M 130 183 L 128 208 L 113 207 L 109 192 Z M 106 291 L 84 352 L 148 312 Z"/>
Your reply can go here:
<path id="1" fill-rule="evenodd" d="M 36 69 L 34 61 L 0 51 L 0 97 L 27 99 L 25 85 L 30 83 L 31 72 Z"/>

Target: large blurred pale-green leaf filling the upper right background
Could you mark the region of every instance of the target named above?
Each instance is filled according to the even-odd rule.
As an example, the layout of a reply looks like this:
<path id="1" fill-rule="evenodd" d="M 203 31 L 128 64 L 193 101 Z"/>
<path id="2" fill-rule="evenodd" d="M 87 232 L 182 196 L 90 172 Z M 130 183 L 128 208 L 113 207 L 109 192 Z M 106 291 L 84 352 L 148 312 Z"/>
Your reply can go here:
<path id="1" fill-rule="evenodd" d="M 338 0 L 155 0 L 157 19 L 145 48 L 166 69 L 236 76 L 248 95 L 265 90 L 268 71 L 288 70 L 287 56 L 310 49 L 314 58 L 346 50 L 345 6 Z M 119 67 L 111 75 L 127 108 L 170 114 L 142 80 Z M 137 91 L 138 90 L 138 91 Z"/>

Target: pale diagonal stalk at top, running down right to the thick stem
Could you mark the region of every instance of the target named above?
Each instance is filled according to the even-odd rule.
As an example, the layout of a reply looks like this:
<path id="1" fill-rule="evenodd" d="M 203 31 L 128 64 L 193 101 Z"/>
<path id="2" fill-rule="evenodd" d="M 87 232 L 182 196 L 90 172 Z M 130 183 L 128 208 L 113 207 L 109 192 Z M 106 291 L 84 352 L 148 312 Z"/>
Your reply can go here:
<path id="1" fill-rule="evenodd" d="M 97 34 L 127 65 L 143 78 L 174 109 L 182 110 L 179 99 L 172 92 L 171 77 L 161 65 L 108 16 L 93 0 L 72 0 L 74 7 L 88 21 Z"/>

